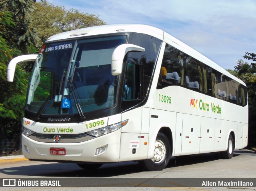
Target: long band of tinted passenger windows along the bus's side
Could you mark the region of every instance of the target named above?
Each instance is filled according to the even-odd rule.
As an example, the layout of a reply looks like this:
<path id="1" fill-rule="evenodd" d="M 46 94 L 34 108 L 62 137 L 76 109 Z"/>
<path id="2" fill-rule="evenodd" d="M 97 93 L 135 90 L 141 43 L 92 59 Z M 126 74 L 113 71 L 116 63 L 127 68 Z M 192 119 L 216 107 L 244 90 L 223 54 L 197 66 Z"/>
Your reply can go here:
<path id="1" fill-rule="evenodd" d="M 182 86 L 238 105 L 247 104 L 246 87 L 166 44 L 156 89 Z"/>

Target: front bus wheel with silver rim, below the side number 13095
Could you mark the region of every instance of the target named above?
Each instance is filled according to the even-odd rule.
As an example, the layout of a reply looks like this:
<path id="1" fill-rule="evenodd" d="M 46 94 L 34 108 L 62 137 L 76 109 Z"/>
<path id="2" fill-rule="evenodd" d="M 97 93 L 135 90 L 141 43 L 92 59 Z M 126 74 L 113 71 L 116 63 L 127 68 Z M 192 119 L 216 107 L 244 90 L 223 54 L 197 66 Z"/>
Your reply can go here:
<path id="1" fill-rule="evenodd" d="M 164 169 L 170 160 L 170 141 L 164 133 L 158 133 L 154 145 L 154 156 L 152 159 L 139 161 L 139 164 L 148 171 L 160 171 Z"/>

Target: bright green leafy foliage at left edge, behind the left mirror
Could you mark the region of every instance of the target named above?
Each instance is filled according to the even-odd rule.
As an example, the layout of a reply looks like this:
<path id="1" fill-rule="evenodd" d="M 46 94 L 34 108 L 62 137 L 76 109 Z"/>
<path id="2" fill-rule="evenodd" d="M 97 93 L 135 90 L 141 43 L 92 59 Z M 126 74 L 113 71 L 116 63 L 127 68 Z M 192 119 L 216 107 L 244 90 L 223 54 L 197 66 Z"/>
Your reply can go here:
<path id="1" fill-rule="evenodd" d="M 25 103 L 27 83 L 24 71 L 18 67 L 16 81 L 13 84 L 6 82 L 7 63 L 20 51 L 11 48 L 2 37 L 6 28 L 15 27 L 14 20 L 10 13 L 0 12 L 0 117 L 17 119 L 22 117 Z M 19 80 L 17 80 L 19 79 Z M 25 93 L 25 94 L 24 94 Z M 16 105 L 14 105 L 16 103 Z M 21 104 L 20 104 L 21 103 Z"/>

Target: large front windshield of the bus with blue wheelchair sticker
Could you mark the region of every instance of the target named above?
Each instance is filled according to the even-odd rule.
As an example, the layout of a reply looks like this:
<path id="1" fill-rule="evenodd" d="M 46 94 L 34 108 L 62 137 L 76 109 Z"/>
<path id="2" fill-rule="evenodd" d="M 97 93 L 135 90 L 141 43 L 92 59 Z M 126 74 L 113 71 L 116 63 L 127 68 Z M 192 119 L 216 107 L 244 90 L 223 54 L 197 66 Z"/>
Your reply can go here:
<path id="1" fill-rule="evenodd" d="M 26 109 L 40 114 L 76 114 L 111 107 L 118 76 L 112 53 L 126 36 L 44 44 L 30 79 Z"/>

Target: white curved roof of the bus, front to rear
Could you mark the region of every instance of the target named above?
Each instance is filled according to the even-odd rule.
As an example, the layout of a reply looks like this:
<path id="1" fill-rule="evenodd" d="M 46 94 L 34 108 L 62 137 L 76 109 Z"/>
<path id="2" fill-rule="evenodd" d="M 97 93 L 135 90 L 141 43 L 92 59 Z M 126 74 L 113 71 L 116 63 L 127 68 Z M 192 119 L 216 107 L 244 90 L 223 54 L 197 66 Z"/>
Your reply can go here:
<path id="1" fill-rule="evenodd" d="M 164 32 L 163 30 L 153 26 L 148 26 L 143 24 L 113 24 L 113 25 L 93 26 L 93 27 L 81 28 L 81 29 L 71 30 L 71 31 L 62 32 L 60 34 L 53 35 L 46 40 L 46 43 L 65 40 L 65 39 L 68 40 L 68 39 L 81 38 L 86 36 L 95 36 L 100 34 L 114 34 L 114 33 L 122 33 L 122 32 L 143 33 L 143 34 L 154 36 L 167 43 L 174 42 L 171 45 L 174 46 L 175 48 L 178 48 L 182 52 L 194 57 L 200 62 L 207 64 L 208 66 L 214 68 L 215 70 L 221 72 L 222 74 L 229 76 L 230 78 L 238 81 L 240 84 L 243 84 L 244 86 L 246 86 L 245 83 L 242 82 L 242 80 L 231 75 L 228 71 L 220 67 L 218 64 L 216 64 L 212 60 L 208 59 L 206 56 L 200 54 L 190 46 L 184 44 L 177 38 Z"/>

